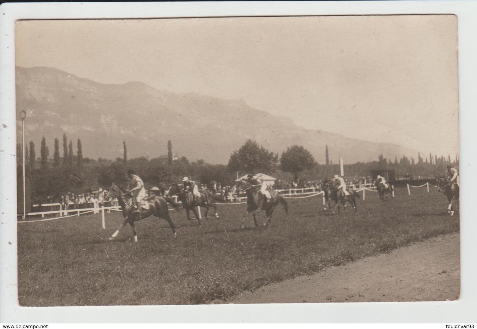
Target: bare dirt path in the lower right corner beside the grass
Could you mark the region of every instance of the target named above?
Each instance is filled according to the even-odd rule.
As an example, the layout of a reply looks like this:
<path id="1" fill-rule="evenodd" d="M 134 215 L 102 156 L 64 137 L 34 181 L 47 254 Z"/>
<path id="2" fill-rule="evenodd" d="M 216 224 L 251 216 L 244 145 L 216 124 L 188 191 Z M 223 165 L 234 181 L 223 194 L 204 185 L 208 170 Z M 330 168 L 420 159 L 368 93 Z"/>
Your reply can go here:
<path id="1" fill-rule="evenodd" d="M 456 300 L 459 255 L 459 234 L 438 236 L 389 254 L 263 287 L 229 303 Z"/>

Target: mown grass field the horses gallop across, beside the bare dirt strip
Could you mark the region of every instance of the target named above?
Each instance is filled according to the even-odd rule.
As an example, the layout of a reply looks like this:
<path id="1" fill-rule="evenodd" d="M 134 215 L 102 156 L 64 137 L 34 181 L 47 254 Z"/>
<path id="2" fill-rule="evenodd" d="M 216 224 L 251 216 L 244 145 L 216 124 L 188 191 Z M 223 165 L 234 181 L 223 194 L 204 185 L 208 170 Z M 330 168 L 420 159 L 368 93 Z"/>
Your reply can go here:
<path id="1" fill-rule="evenodd" d="M 360 193 L 361 195 L 361 193 Z M 396 189 L 382 202 L 376 193 L 352 209 L 330 215 L 321 196 L 290 200 L 289 214 L 277 207 L 272 225 L 240 229 L 246 205 L 218 206 L 220 219 L 167 222 L 147 218 L 114 241 L 120 213 L 85 215 L 18 224 L 18 294 L 21 306 L 174 305 L 229 300 L 247 290 L 325 267 L 385 253 L 414 241 L 459 230 L 435 189 Z M 349 208 L 349 207 L 348 207 Z M 265 220 L 264 214 L 258 215 Z M 456 255 L 457 256 L 457 255 Z"/>

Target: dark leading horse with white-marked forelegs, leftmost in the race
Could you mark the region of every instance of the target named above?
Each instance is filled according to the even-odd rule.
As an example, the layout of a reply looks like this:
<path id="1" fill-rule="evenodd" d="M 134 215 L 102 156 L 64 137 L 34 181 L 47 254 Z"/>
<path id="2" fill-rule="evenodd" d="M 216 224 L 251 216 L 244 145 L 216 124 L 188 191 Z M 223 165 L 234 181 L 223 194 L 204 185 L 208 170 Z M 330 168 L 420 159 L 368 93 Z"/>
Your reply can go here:
<path id="1" fill-rule="evenodd" d="M 169 223 L 169 225 L 172 228 L 172 233 L 174 236 L 176 236 L 176 227 L 180 226 L 174 226 L 174 223 L 171 220 L 171 217 L 169 216 L 169 210 L 167 206 L 167 202 L 171 204 L 177 211 L 178 208 L 180 208 L 180 205 L 172 200 L 167 200 L 163 197 L 160 196 L 153 196 L 145 199 L 144 201 L 147 202 L 148 204 L 148 209 L 141 208 L 139 213 L 134 212 L 134 206 L 133 206 L 133 196 L 129 192 L 124 192 L 124 190 L 115 184 L 111 186 L 107 194 L 105 195 L 105 198 L 114 198 L 116 197 L 118 199 L 119 206 L 121 206 L 121 210 L 123 211 L 123 217 L 124 217 L 124 222 L 121 224 L 116 232 L 109 238 L 110 240 L 113 240 L 118 234 L 119 231 L 123 229 L 123 227 L 126 224 L 129 224 L 131 228 L 133 229 L 134 233 L 134 241 L 137 242 L 137 232 L 134 226 L 134 222 L 137 222 L 138 220 L 141 220 L 143 218 L 147 218 L 151 215 L 154 215 L 159 218 L 166 219 L 166 221 Z"/>

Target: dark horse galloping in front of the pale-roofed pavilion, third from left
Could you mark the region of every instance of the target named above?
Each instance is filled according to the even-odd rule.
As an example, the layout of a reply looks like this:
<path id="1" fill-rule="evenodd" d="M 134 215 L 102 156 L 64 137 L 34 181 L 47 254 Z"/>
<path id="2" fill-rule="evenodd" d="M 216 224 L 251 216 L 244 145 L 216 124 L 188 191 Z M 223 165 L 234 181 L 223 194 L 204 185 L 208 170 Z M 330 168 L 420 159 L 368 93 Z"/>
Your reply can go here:
<path id="1" fill-rule="evenodd" d="M 262 210 L 265 210 L 265 214 L 267 215 L 267 222 L 270 227 L 271 215 L 273 214 L 275 207 L 278 206 L 279 203 L 283 205 L 283 207 L 285 208 L 285 213 L 288 214 L 287 202 L 285 201 L 285 199 L 283 199 L 281 195 L 278 195 L 277 192 L 275 192 L 274 190 L 268 189 L 268 191 L 270 192 L 270 200 L 268 201 L 265 200 L 264 197 L 261 195 L 260 191 L 254 186 L 252 186 L 249 182 L 239 181 L 239 183 L 237 184 L 237 193 L 241 191 L 245 191 L 245 193 L 247 194 L 247 211 L 242 217 L 242 228 L 245 227 L 245 217 L 249 214 L 252 214 L 253 216 L 255 227 L 259 227 L 255 215 Z M 263 223 L 263 225 L 267 225 L 267 222 Z"/>

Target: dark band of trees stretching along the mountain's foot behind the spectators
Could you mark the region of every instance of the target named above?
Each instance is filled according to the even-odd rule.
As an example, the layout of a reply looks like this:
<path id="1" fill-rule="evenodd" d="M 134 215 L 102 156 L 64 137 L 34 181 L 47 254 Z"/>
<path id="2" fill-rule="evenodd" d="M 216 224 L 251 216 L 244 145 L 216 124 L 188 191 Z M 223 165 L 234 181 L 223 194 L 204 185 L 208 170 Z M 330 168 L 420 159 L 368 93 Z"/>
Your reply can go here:
<path id="1" fill-rule="evenodd" d="M 59 140 L 54 139 L 52 162 L 49 161 L 49 148 L 41 139 L 40 157 L 36 158 L 35 145 L 31 141 L 25 148 L 26 174 L 31 182 L 31 195 L 34 203 L 46 203 L 49 197 L 58 200 L 67 192 L 87 193 L 107 188 L 113 183 L 125 185 L 125 172 L 133 169 L 144 181 L 146 188 L 160 183 L 169 184 L 187 176 L 197 182 L 209 184 L 216 181 L 222 185 L 233 185 L 241 175 L 264 173 L 279 179 L 321 180 L 326 176 L 339 174 L 339 165 L 332 163 L 326 146 L 325 164 L 318 164 L 313 155 L 301 145 L 291 145 L 281 154 L 270 152 L 257 142 L 249 139 L 230 154 L 228 165 L 211 165 L 203 159 L 189 162 L 182 156 L 174 160 L 171 141 L 167 142 L 167 157 L 147 159 L 146 157 L 128 159 L 126 142 L 123 142 L 123 157 L 115 160 L 83 158 L 81 140 L 76 143 L 73 154 L 73 141 L 66 134 L 62 140 L 63 157 L 60 156 Z M 458 164 L 450 155 L 447 157 L 429 154 L 429 159 L 418 154 L 417 161 L 403 155 L 394 162 L 379 155 L 377 161 L 344 165 L 345 175 L 367 176 L 371 170 L 393 170 L 398 176 L 432 176 L 445 170 L 448 163 Z M 21 144 L 17 144 L 18 175 L 21 176 Z"/>

